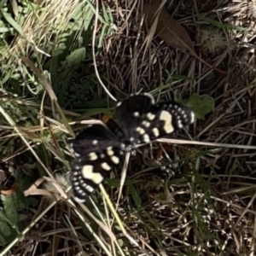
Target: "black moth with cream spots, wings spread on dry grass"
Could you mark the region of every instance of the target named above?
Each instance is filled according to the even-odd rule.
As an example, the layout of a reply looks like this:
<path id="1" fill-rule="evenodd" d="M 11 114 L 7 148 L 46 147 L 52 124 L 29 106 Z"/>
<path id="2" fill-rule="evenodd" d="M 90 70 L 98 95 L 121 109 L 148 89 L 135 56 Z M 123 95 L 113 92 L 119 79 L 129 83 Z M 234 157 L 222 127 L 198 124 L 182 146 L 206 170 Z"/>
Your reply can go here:
<path id="1" fill-rule="evenodd" d="M 120 156 L 191 125 L 194 113 L 178 102 L 154 103 L 149 94 L 132 95 L 116 107 L 114 119 L 105 125 L 90 125 L 73 142 L 77 157 L 70 182 L 76 201 L 86 197 L 108 177 Z"/>

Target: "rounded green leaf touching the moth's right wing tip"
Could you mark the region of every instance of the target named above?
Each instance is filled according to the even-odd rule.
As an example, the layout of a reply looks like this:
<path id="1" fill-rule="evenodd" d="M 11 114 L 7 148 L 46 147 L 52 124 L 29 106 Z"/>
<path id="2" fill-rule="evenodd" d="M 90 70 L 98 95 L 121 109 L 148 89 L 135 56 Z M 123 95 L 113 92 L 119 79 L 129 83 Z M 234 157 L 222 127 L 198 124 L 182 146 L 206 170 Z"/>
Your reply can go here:
<path id="1" fill-rule="evenodd" d="M 186 104 L 194 111 L 197 119 L 205 119 L 206 114 L 212 112 L 215 108 L 214 99 L 207 94 L 194 93 L 186 100 Z"/>

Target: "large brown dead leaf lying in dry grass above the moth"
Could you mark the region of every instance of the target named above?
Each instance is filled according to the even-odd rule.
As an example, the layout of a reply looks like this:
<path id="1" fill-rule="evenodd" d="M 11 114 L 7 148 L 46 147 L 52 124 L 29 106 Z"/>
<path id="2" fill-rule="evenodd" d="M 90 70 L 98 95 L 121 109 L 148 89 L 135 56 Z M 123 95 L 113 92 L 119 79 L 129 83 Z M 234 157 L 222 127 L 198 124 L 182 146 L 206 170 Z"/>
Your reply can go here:
<path id="1" fill-rule="evenodd" d="M 156 11 L 159 8 L 160 2 L 144 3 L 144 12 L 148 25 L 152 26 L 154 22 L 157 22 L 154 34 L 173 48 L 180 49 L 183 52 L 195 51 L 194 44 L 183 26 L 168 14 L 165 7 L 160 10 L 160 14 L 157 16 Z"/>

